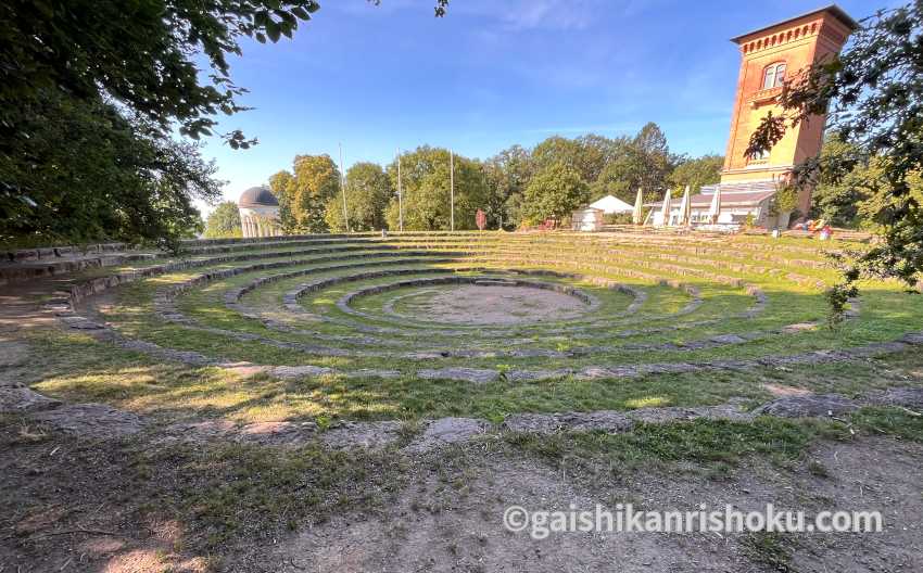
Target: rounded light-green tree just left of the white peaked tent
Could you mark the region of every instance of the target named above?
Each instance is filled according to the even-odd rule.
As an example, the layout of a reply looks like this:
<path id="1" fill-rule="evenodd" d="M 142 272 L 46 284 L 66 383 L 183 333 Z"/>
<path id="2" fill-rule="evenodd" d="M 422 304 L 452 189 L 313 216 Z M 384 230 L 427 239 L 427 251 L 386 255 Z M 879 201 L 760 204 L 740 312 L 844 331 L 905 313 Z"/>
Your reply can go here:
<path id="1" fill-rule="evenodd" d="M 580 173 L 565 163 L 552 164 L 526 189 L 526 212 L 531 222 L 562 219 L 590 199 L 590 187 Z"/>

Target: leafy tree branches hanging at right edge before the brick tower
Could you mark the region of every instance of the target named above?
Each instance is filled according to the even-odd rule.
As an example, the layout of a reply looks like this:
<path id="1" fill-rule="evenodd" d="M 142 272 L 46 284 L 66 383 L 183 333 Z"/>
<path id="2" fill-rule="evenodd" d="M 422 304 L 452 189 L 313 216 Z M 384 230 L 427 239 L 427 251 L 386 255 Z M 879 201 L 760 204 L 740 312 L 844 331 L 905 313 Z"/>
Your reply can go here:
<path id="1" fill-rule="evenodd" d="M 786 82 L 781 114 L 770 114 L 746 153 L 769 150 L 789 126 L 819 120 L 846 148 L 796 166 L 794 184 L 842 181 L 858 165 L 880 170 L 870 187 L 876 200 L 867 216 L 883 242 L 844 260 L 844 283 L 831 292 L 834 311 L 857 290 L 862 275 L 896 277 L 915 285 L 923 271 L 923 211 L 914 192 L 923 171 L 923 2 L 878 11 L 861 22 L 842 55 L 810 66 Z"/>

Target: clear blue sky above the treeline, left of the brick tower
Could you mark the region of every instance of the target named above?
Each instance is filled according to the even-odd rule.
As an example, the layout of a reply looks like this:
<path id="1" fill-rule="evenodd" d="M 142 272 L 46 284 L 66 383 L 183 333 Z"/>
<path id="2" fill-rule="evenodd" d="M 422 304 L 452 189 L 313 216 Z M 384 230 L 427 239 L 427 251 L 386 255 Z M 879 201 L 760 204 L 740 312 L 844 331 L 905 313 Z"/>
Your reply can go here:
<path id="1" fill-rule="evenodd" d="M 857 20 L 887 2 L 844 0 Z M 732 36 L 823 0 L 321 0 L 293 40 L 245 41 L 235 81 L 254 110 L 220 119 L 260 144 L 203 154 L 225 198 L 266 182 L 295 154 L 342 142 L 346 166 L 397 147 L 489 157 L 553 135 L 619 136 L 656 122 L 674 152 L 724 153 L 739 55 Z M 204 206 L 204 205 L 203 205 Z M 208 211 L 204 206 L 204 211 Z"/>

